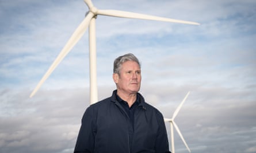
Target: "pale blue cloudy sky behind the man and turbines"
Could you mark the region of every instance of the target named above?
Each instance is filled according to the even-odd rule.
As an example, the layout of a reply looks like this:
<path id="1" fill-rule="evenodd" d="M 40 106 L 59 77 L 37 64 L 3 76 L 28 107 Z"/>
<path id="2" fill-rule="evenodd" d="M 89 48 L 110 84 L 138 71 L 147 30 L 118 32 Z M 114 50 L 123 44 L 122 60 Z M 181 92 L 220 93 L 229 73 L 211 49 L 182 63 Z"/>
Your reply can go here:
<path id="1" fill-rule="evenodd" d="M 140 93 L 171 118 L 191 152 L 256 152 L 256 2 L 254 0 L 93 1 L 197 25 L 98 15 L 98 99 L 116 89 L 113 61 L 133 53 L 142 63 Z M 74 150 L 90 105 L 88 33 L 30 93 L 85 18 L 82 0 L 0 0 L 0 152 Z M 170 127 L 166 123 L 170 143 Z M 185 145 L 174 131 L 175 152 Z M 171 146 L 170 146 L 171 147 Z"/>

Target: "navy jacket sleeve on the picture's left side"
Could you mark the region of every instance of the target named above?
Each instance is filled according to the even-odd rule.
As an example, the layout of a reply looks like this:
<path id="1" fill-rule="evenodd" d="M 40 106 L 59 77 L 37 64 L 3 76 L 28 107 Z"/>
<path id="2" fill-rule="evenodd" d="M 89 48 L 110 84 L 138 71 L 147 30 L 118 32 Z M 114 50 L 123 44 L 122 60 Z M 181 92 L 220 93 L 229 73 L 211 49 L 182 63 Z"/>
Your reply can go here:
<path id="1" fill-rule="evenodd" d="M 88 107 L 83 114 L 82 125 L 75 144 L 74 153 L 89 153 L 94 151 L 95 121 L 93 108 Z"/>

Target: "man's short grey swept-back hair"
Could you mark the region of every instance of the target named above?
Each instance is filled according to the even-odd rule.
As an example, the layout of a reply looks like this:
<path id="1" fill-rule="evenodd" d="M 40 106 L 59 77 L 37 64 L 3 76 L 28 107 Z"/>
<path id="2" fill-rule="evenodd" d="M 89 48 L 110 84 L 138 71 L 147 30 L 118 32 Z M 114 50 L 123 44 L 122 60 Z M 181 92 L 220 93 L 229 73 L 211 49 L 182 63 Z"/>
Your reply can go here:
<path id="1" fill-rule="evenodd" d="M 134 56 L 132 53 L 124 54 L 123 56 L 119 56 L 114 60 L 114 69 L 113 72 L 119 74 L 121 66 L 124 62 L 126 61 L 135 61 L 137 64 L 139 64 L 140 67 L 140 62 L 137 59 L 136 56 Z"/>

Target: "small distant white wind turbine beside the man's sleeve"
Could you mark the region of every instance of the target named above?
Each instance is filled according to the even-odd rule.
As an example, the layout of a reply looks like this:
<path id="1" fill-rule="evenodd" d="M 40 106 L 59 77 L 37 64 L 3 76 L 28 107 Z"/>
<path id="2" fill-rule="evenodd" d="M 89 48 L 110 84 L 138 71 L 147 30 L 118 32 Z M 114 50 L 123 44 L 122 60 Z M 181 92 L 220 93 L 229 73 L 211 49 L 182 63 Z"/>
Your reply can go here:
<path id="1" fill-rule="evenodd" d="M 170 122 L 170 127 L 171 127 L 171 153 L 175 153 L 174 150 L 174 135 L 173 135 L 173 127 L 176 129 L 176 131 L 178 132 L 179 136 L 181 137 L 182 141 L 184 142 L 186 148 L 188 149 L 189 152 L 190 149 L 188 147 L 188 144 L 186 144 L 185 139 L 183 138 L 181 131 L 179 131 L 179 128 L 177 126 L 177 124 L 174 122 L 175 117 L 177 116 L 179 109 L 181 109 L 183 103 L 185 102 L 186 98 L 189 96 L 189 92 L 186 94 L 185 98 L 183 99 L 183 101 L 181 102 L 181 104 L 178 105 L 177 109 L 175 110 L 175 112 L 173 113 L 173 117 L 171 119 L 166 119 L 165 121 Z"/>

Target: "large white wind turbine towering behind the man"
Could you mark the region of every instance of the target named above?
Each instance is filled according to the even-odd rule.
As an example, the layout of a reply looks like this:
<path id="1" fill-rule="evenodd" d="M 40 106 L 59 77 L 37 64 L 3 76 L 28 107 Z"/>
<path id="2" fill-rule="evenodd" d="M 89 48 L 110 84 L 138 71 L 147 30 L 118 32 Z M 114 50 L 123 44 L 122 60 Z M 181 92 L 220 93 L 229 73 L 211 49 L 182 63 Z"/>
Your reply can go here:
<path id="1" fill-rule="evenodd" d="M 185 23 L 192 25 L 199 25 L 196 22 L 182 21 L 178 19 L 162 18 L 146 14 L 131 13 L 127 11 L 118 11 L 118 10 L 98 10 L 94 7 L 91 0 L 84 0 L 86 5 L 89 7 L 89 11 L 86 14 L 85 19 L 78 26 L 75 32 L 72 34 L 70 39 L 67 41 L 67 44 L 64 46 L 62 51 L 59 53 L 58 57 L 55 59 L 54 63 L 50 66 L 47 72 L 44 74 L 43 78 L 39 81 L 36 88 L 31 93 L 30 97 L 35 95 L 44 81 L 49 77 L 49 75 L 54 71 L 54 69 L 59 65 L 63 58 L 70 52 L 75 44 L 80 40 L 83 34 L 86 32 L 89 27 L 89 54 L 90 54 L 90 103 L 95 103 L 98 100 L 98 91 L 97 91 L 97 68 L 96 68 L 96 36 L 95 36 L 95 18 L 97 15 L 107 15 L 110 17 L 121 17 L 121 18 L 136 18 L 136 19 L 150 19 L 156 21 L 165 21 L 165 22 L 177 22 Z"/>

